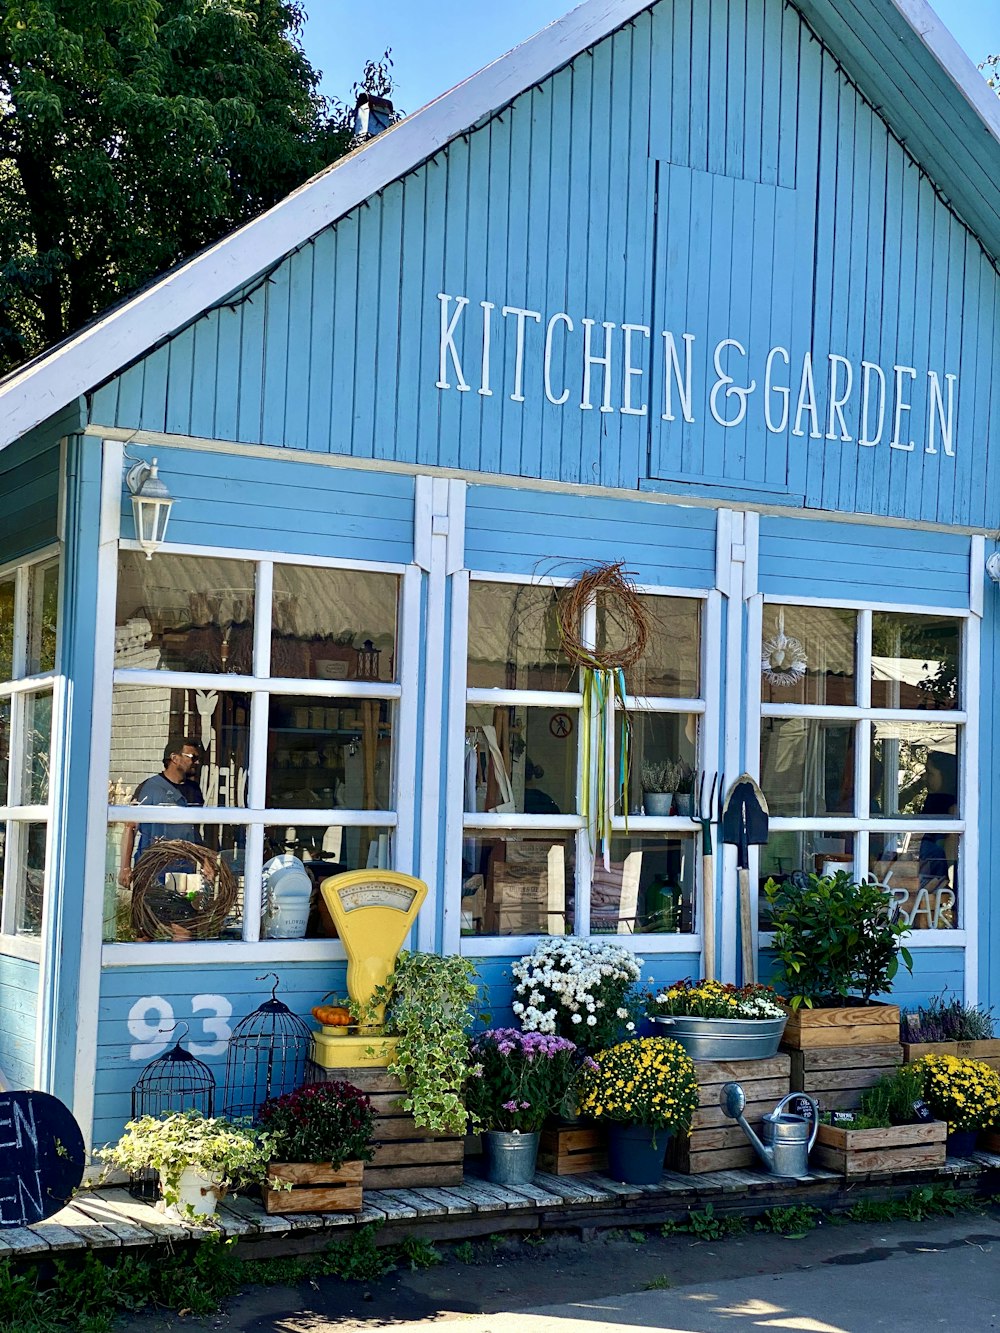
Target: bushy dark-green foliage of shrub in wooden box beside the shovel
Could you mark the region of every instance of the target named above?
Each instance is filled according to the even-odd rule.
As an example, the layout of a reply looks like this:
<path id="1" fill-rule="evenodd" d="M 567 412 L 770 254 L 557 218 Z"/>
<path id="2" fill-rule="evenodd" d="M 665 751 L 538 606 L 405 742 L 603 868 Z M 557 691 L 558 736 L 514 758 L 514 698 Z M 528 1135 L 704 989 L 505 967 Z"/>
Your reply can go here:
<path id="1" fill-rule="evenodd" d="M 907 926 L 880 884 L 837 870 L 809 874 L 803 888 L 768 880 L 764 894 L 775 932 L 775 984 L 792 1009 L 867 1005 L 892 989 L 900 958 L 913 970 L 900 945 Z"/>

